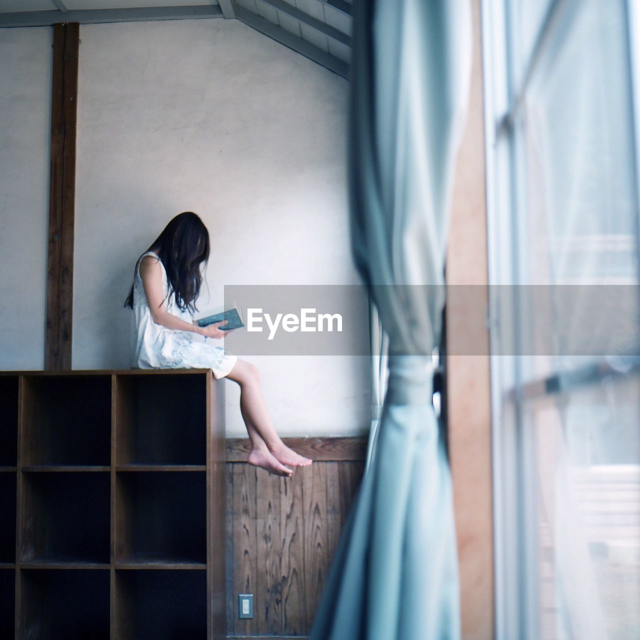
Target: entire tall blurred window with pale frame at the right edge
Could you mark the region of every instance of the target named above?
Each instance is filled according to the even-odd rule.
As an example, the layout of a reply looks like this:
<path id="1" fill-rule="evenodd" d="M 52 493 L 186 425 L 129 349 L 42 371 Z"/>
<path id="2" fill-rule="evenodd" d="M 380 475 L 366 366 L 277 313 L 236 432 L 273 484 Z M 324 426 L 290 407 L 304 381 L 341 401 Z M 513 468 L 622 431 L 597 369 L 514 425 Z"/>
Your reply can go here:
<path id="1" fill-rule="evenodd" d="M 556 3 L 524 87 L 550 0 L 484 4 L 490 282 L 516 284 L 492 291 L 497 636 L 637 640 L 632 3 Z"/>

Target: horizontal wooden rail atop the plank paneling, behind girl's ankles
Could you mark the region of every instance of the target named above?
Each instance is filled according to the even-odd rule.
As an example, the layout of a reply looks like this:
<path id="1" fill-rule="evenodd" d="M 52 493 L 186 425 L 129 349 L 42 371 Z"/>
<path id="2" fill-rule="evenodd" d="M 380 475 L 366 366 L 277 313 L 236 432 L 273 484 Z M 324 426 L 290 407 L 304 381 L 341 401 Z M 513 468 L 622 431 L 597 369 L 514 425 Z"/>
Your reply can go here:
<path id="1" fill-rule="evenodd" d="M 367 458 L 367 438 L 284 438 L 306 458 L 319 462 L 362 461 Z M 227 438 L 227 462 L 246 462 L 251 451 L 249 438 Z"/>

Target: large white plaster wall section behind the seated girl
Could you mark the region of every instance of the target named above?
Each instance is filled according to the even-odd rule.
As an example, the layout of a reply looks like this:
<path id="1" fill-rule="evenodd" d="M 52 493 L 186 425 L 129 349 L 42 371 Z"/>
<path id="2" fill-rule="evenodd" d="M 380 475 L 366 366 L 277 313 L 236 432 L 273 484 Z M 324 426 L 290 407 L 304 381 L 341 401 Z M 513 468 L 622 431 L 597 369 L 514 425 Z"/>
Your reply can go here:
<path id="1" fill-rule="evenodd" d="M 82 26 L 80 36 L 74 368 L 129 367 L 122 303 L 134 262 L 180 211 L 211 233 L 201 309 L 225 284 L 358 282 L 344 79 L 236 20 Z M 283 435 L 368 427 L 367 358 L 252 360 Z M 227 435 L 243 436 L 226 384 Z"/>

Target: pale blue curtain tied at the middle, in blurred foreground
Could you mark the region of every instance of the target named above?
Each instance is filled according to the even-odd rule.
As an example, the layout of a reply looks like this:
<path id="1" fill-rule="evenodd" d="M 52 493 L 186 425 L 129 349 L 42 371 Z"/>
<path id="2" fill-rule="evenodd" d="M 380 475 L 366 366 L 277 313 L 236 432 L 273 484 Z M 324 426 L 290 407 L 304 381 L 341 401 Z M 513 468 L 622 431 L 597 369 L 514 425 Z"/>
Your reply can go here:
<path id="1" fill-rule="evenodd" d="M 313 640 L 460 637 L 451 474 L 431 404 L 431 351 L 470 58 L 467 0 L 354 4 L 351 239 L 388 335 L 389 376 Z"/>

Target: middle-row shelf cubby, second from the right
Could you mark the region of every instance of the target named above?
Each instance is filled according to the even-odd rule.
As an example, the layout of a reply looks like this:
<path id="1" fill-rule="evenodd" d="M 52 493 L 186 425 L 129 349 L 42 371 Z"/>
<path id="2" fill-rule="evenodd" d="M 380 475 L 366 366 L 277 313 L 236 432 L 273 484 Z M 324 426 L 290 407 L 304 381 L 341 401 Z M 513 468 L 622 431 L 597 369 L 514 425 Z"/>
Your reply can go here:
<path id="1" fill-rule="evenodd" d="M 109 473 L 22 472 L 20 562 L 109 564 Z"/>

